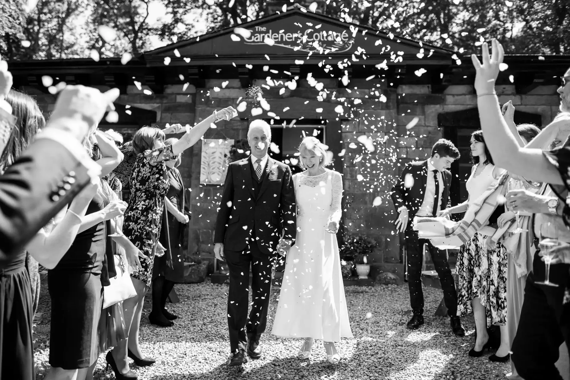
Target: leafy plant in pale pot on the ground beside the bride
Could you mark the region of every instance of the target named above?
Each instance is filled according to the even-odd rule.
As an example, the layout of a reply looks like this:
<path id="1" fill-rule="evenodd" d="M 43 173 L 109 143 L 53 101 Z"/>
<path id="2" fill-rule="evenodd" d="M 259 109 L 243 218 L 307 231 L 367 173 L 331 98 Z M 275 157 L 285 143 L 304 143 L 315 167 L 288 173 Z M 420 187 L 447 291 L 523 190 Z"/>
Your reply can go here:
<path id="1" fill-rule="evenodd" d="M 345 236 L 343 246 L 340 248 L 343 277 L 351 276 L 356 267 L 359 278 L 368 278 L 368 273 L 370 273 L 368 255 L 372 253 L 376 246 L 378 246 L 376 240 L 369 236 Z"/>

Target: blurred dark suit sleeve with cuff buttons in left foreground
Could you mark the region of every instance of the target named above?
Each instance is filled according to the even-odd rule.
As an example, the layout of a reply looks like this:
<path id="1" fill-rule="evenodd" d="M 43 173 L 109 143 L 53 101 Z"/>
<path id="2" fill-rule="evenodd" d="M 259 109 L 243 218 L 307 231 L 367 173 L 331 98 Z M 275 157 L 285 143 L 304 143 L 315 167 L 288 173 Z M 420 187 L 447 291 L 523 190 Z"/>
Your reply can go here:
<path id="1" fill-rule="evenodd" d="M 0 175 L 0 268 L 89 183 L 63 144 L 38 138 Z"/>

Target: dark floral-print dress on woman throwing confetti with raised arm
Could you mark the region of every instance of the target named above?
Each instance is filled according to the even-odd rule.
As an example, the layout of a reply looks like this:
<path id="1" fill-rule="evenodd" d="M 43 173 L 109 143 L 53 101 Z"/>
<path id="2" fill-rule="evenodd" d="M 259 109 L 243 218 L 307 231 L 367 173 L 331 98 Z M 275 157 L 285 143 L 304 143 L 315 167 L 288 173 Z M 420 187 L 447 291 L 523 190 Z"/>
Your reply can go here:
<path id="1" fill-rule="evenodd" d="M 165 161 L 176 158 L 172 145 L 139 153 L 131 175 L 131 197 L 124 214 L 123 233 L 147 259 L 141 258 L 141 270 L 133 277 L 150 286 L 154 253 L 162 226 L 164 197 L 170 182 Z"/>

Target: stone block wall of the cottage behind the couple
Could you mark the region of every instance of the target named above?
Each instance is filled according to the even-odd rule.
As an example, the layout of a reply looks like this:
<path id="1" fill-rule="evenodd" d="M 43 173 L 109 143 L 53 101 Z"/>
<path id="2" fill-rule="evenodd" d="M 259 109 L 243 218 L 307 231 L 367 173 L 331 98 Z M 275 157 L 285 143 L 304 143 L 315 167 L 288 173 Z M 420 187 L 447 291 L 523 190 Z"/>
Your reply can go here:
<path id="1" fill-rule="evenodd" d="M 343 164 L 345 234 L 365 234 L 377 240 L 378 247 L 370 257 L 375 268 L 372 274 L 378 270 L 402 272 L 400 236 L 393 228 L 396 212 L 389 191 L 405 163 L 425 160 L 430 155 L 431 146 L 443 136 L 443 130 L 438 128 L 439 113 L 477 107 L 473 86 L 451 85 L 445 93 L 434 94 L 430 85 L 388 88 L 382 80 L 353 79 L 349 89 L 339 88 L 337 80 L 328 78 L 302 79 L 298 81 L 298 88 L 286 88 L 283 92 L 283 82 L 268 85 L 265 80 L 254 80 L 254 84 L 264 86 L 264 97 L 270 104 L 272 101 L 274 104 L 286 104 L 288 97 L 310 100 L 307 107 L 311 109 L 291 109 L 286 113 L 291 116 L 287 117 L 312 115 L 307 118 L 316 118 L 321 115 L 313 109 L 317 97 L 323 95 L 315 83 L 323 83 L 328 91 L 321 104 L 343 105 L 345 111 L 340 116 L 340 125 L 344 155 L 337 154 L 335 159 Z M 189 85 L 184 89 L 182 85 L 169 85 L 162 95 L 145 95 L 144 89 L 130 86 L 128 93 L 121 95 L 117 103 L 155 111 L 156 122 L 161 127 L 166 122 L 194 125 L 211 115 L 214 109 L 230 105 L 237 107 L 238 99 L 246 97 L 245 89 L 237 79 L 206 80 L 205 88 Z M 542 115 L 543 125 L 557 113 L 559 99 L 555 86 L 538 87 L 524 95 L 516 94 L 514 85 L 498 87 L 497 91 L 501 103 L 512 100 L 519 111 Z M 34 95 L 47 116 L 53 108 L 54 96 L 39 92 Z M 412 121 L 417 122 L 406 129 Z M 210 129 L 205 137 L 246 138 L 247 124 L 247 120 L 239 119 L 219 122 L 218 128 Z M 358 140 L 364 135 L 372 139 L 373 152 Z M 213 258 L 213 231 L 222 187 L 200 185 L 200 143 L 182 157 L 179 169 L 185 187 L 192 190 L 188 255 Z"/>

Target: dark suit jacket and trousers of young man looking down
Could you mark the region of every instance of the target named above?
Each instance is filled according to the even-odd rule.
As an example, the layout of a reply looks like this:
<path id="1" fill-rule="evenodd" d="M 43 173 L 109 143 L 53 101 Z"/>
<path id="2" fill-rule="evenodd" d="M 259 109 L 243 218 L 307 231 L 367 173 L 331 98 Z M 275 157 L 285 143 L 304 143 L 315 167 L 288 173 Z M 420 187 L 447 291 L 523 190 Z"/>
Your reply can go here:
<path id="1" fill-rule="evenodd" d="M 431 254 L 431 259 L 435 265 L 435 270 L 439 275 L 439 281 L 441 281 L 443 297 L 445 300 L 445 305 L 448 309 L 447 313 L 449 316 L 455 316 L 457 314 L 457 292 L 455 291 L 455 281 L 453 279 L 453 276 L 451 276 L 451 270 L 449 269 L 449 263 L 447 262 L 446 252 L 435 248 L 427 239 L 419 239 L 417 231 L 414 231 L 412 229 L 414 216 L 416 216 L 416 214 L 418 214 L 418 211 L 421 210 L 424 201 L 427 201 L 427 199 L 424 198 L 428 198 L 425 197 L 428 182 L 427 175 L 434 175 L 433 172 L 427 169 L 427 167 L 427 160 L 421 162 L 408 162 L 408 164 L 406 164 L 404 167 L 404 171 L 402 171 L 400 181 L 398 181 L 398 183 L 392 188 L 391 194 L 394 206 L 396 206 L 396 210 L 400 210 L 401 207 L 406 207 L 408 209 L 409 220 L 408 227 L 406 227 L 405 236 L 406 252 L 408 255 L 408 268 L 406 269 L 408 270 L 410 304 L 412 305 L 414 314 L 421 315 L 424 313 L 424 292 L 422 291 L 421 271 L 423 247 L 424 244 L 427 243 Z M 449 199 L 451 172 L 449 170 L 444 170 L 440 173 L 443 191 L 441 194 L 441 200 L 438 202 L 436 209 L 444 210 L 447 207 L 451 206 L 451 201 Z M 435 183 L 435 181 L 433 183 Z M 433 189 L 431 189 L 431 191 L 432 193 L 434 192 Z M 421 216 L 435 216 L 432 213 L 433 209 L 428 209 L 429 214 L 431 215 Z M 425 210 L 422 211 L 425 212 Z"/>

